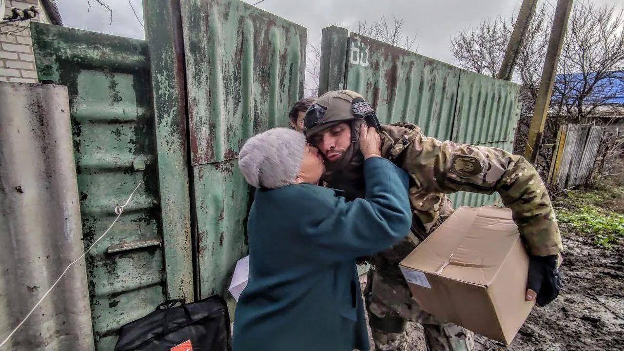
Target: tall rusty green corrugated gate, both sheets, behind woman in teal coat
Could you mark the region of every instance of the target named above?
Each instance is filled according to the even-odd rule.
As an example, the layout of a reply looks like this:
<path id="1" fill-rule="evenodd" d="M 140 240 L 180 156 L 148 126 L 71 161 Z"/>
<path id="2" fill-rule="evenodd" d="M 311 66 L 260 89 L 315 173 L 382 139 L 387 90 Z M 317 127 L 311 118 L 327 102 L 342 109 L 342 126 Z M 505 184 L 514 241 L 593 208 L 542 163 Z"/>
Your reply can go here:
<path id="1" fill-rule="evenodd" d="M 182 2 L 200 296 L 227 292 L 247 252 L 243 143 L 287 126 L 303 93 L 306 29 L 238 0 Z"/>

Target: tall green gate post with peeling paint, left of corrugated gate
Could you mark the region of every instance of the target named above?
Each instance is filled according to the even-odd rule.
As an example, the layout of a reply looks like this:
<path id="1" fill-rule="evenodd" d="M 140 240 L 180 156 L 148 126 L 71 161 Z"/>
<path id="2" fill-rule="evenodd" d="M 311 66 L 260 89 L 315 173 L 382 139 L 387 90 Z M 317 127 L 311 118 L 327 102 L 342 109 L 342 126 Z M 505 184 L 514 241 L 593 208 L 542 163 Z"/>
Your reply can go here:
<path id="1" fill-rule="evenodd" d="M 167 296 L 190 302 L 195 294 L 179 6 L 177 1 L 146 1 L 145 36 L 154 91 Z"/>

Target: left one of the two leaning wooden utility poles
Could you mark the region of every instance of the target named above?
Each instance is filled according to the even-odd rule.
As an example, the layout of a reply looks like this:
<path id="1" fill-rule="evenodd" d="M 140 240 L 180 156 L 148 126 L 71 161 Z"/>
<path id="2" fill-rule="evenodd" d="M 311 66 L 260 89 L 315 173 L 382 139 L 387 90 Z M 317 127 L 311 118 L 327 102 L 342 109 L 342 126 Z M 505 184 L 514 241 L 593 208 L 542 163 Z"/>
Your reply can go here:
<path id="1" fill-rule="evenodd" d="M 499 79 L 505 79 L 510 81 L 514 74 L 515 61 L 518 58 L 518 54 L 524 44 L 524 38 L 527 36 L 527 30 L 529 29 L 529 23 L 531 18 L 535 14 L 535 8 L 537 7 L 537 0 L 523 0 L 520 12 L 518 12 L 518 18 L 515 20 L 514 32 L 512 32 L 509 38 L 509 44 L 507 44 L 507 51 L 505 51 L 505 57 L 499 70 Z"/>

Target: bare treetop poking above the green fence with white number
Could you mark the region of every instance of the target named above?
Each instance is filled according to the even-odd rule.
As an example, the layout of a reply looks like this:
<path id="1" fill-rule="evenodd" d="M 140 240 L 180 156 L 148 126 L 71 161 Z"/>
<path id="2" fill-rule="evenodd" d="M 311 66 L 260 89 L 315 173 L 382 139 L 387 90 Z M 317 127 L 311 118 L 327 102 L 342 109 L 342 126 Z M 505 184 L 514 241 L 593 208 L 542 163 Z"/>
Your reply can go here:
<path id="1" fill-rule="evenodd" d="M 387 42 L 394 46 L 400 46 L 404 49 L 411 50 L 416 42 L 416 33 L 413 36 L 407 36 L 403 33 L 405 25 L 405 19 L 401 17 L 398 19 L 392 15 L 392 23 L 388 24 L 385 16 L 381 16 L 378 21 L 373 21 L 371 24 L 367 24 L 366 21 L 359 21 L 358 33 L 363 36 L 373 38 L 378 41 Z M 416 51 L 414 49 L 414 51 Z"/>

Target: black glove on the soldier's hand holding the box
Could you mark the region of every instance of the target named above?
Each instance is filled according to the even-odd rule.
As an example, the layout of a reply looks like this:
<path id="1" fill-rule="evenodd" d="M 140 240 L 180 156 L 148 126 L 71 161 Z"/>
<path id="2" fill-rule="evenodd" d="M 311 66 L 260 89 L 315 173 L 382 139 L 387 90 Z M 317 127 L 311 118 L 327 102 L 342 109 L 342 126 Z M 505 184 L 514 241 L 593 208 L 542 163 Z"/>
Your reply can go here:
<path id="1" fill-rule="evenodd" d="M 561 277 L 557 267 L 557 255 L 529 256 L 529 281 L 527 289 L 537 294 L 537 305 L 550 304 L 561 290 Z"/>

